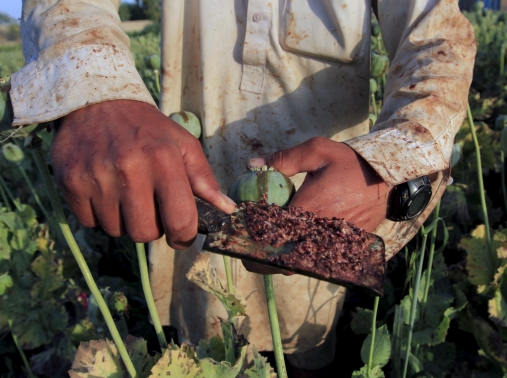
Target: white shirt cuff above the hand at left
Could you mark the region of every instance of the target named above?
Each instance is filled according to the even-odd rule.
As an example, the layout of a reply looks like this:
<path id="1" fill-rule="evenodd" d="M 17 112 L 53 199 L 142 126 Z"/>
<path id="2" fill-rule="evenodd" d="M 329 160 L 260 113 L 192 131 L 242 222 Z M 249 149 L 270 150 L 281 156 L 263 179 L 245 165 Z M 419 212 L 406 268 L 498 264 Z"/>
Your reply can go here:
<path id="1" fill-rule="evenodd" d="M 86 45 L 48 62 L 38 59 L 12 75 L 13 126 L 48 122 L 109 100 L 157 106 L 130 56 L 116 46 Z"/>

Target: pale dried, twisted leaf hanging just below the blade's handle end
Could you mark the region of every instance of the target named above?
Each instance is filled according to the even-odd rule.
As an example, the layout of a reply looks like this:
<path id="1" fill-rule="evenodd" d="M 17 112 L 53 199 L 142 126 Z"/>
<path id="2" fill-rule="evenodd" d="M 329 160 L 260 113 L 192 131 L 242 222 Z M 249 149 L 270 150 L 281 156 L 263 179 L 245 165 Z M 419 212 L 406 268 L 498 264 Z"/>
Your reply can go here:
<path id="1" fill-rule="evenodd" d="M 233 295 L 224 288 L 216 269 L 210 265 L 209 254 L 201 253 L 197 257 L 187 278 L 201 289 L 214 294 L 225 307 L 229 320 L 246 315 L 245 301 L 237 293 Z"/>

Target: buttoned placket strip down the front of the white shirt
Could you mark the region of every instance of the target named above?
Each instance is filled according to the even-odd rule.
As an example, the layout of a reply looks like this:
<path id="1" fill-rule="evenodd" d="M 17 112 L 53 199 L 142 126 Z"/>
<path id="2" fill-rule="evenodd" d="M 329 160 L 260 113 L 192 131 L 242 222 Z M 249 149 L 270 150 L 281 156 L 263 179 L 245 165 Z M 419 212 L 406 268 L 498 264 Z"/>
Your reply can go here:
<path id="1" fill-rule="evenodd" d="M 267 1 L 248 1 L 243 44 L 243 73 L 240 86 L 243 91 L 262 92 L 271 17 L 271 7 Z"/>

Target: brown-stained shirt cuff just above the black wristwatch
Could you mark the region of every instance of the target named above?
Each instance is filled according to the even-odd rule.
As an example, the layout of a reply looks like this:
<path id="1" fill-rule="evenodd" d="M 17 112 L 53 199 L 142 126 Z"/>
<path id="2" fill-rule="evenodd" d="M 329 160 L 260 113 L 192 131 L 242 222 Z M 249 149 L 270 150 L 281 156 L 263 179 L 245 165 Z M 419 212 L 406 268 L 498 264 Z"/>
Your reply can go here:
<path id="1" fill-rule="evenodd" d="M 447 169 L 449 162 L 440 145 L 433 138 L 421 141 L 421 135 L 404 132 L 423 129 L 408 123 L 403 128 L 389 127 L 343 143 L 361 155 L 388 186 Z M 424 131 L 422 135 L 428 136 Z"/>

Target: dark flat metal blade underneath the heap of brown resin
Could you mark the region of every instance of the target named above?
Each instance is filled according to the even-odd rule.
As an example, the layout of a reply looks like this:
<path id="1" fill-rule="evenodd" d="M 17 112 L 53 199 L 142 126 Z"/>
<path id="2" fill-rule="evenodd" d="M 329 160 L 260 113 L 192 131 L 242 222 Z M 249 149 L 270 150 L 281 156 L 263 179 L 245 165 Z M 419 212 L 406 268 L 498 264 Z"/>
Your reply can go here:
<path id="1" fill-rule="evenodd" d="M 343 269 L 337 265 L 336 270 L 323 272 L 316 266 L 291 266 L 279 258 L 282 254 L 294 253 L 292 250 L 296 242 L 290 242 L 277 248 L 252 240 L 248 234 L 243 211 L 237 210 L 228 217 L 230 218 L 226 222 L 222 222 L 222 228 L 219 231 L 207 235 L 204 241 L 204 250 L 251 260 L 342 286 L 361 288 L 370 294 L 383 295 L 384 293 L 385 247 L 384 241 L 377 235 L 368 233 L 366 243 L 361 244 L 361 248 L 364 250 L 360 257 L 361 268 L 359 270 L 348 270 L 346 269 L 347 264 L 344 264 Z M 295 256 L 297 257 L 297 255 Z"/>

